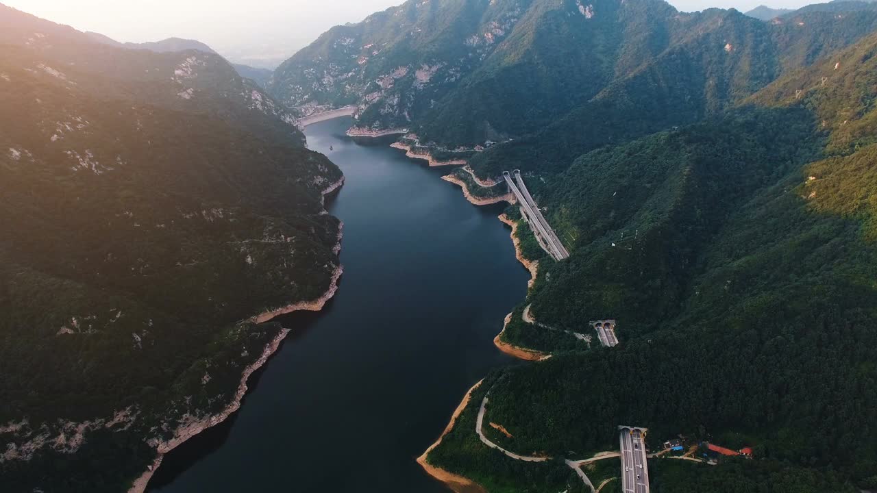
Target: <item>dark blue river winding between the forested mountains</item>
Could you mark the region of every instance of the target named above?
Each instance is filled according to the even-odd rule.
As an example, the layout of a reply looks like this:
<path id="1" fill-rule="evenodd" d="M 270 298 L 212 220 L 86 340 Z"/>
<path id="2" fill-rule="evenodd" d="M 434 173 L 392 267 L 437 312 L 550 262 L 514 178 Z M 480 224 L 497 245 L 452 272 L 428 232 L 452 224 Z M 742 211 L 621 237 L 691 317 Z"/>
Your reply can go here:
<path id="1" fill-rule="evenodd" d="M 524 300 L 501 205 L 476 207 L 389 146 L 310 125 L 346 175 L 327 209 L 345 223 L 338 294 L 253 375 L 240 411 L 168 454 L 155 493 L 446 492 L 415 462 L 466 390 L 510 364 L 492 343 Z M 330 150 L 332 146 L 333 150 Z"/>

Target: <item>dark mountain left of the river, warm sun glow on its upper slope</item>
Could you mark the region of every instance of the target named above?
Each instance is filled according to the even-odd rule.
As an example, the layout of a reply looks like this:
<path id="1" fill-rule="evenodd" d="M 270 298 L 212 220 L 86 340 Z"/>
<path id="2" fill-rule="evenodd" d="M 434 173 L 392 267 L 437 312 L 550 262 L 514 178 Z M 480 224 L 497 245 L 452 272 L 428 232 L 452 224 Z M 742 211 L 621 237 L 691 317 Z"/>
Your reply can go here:
<path id="1" fill-rule="evenodd" d="M 215 54 L 0 27 L 0 490 L 122 491 L 330 289 L 341 174 Z"/>

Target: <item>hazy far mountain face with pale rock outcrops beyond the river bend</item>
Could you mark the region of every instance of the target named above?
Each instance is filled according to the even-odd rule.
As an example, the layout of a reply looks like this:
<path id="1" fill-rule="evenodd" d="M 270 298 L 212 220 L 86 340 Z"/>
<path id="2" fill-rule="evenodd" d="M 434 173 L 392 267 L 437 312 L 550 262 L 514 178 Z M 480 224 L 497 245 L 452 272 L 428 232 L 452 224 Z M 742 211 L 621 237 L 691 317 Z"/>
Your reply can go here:
<path id="1" fill-rule="evenodd" d="M 408 125 L 492 53 L 530 4 L 406 2 L 324 33 L 277 68 L 269 89 L 305 112 L 360 104 L 364 124 Z"/>

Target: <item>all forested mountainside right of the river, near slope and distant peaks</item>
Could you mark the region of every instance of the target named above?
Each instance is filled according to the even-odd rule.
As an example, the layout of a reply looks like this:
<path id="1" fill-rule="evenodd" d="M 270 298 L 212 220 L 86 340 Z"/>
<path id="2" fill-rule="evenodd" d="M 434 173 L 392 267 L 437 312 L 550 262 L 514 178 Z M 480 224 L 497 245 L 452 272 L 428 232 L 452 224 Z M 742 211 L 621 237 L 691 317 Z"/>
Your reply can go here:
<path id="1" fill-rule="evenodd" d="M 502 34 L 472 38 L 492 43 L 460 41 L 511 4 Z M 435 19 L 456 42 L 427 29 Z M 854 491 L 877 487 L 875 30 L 867 3 L 771 22 L 649 0 L 409 3 L 325 34 L 270 90 L 293 106 L 358 104 L 360 125 L 422 141 L 502 141 L 474 172 L 530 177 L 572 255 L 553 262 L 521 238 L 538 279 L 501 337 L 554 357 L 475 393 L 509 432 L 497 443 L 581 458 L 641 423 L 654 442 L 757 446 L 752 464 L 659 462 L 655 491 Z M 399 56 L 417 36 L 430 42 Z M 436 73 L 465 69 L 415 86 L 412 69 L 436 60 Z M 618 347 L 569 333 L 606 318 Z M 564 477 L 484 447 L 476 413 L 427 461 L 491 490 Z"/>

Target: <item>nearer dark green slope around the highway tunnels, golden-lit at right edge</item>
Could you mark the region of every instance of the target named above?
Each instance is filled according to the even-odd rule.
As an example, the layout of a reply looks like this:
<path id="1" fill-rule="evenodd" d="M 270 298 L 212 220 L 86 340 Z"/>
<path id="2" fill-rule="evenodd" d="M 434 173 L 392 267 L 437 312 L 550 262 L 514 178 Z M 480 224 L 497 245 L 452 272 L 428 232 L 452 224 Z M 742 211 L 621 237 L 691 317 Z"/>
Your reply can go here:
<path id="1" fill-rule="evenodd" d="M 542 325 L 503 332 L 555 357 L 488 378 L 490 419 L 511 435 L 493 439 L 587 457 L 643 423 L 652 447 L 679 433 L 756 445 L 756 461 L 713 469 L 655 461 L 655 491 L 877 487 L 875 53 L 872 34 L 700 123 L 585 154 L 568 149 L 575 125 L 531 142 L 558 156 L 529 182 L 572 255 L 540 261 L 525 303 Z M 605 318 L 622 339 L 610 349 L 545 329 Z M 527 484 L 480 447 L 455 431 L 431 463 Z"/>

